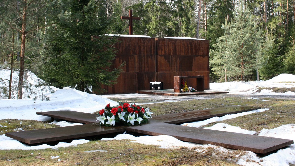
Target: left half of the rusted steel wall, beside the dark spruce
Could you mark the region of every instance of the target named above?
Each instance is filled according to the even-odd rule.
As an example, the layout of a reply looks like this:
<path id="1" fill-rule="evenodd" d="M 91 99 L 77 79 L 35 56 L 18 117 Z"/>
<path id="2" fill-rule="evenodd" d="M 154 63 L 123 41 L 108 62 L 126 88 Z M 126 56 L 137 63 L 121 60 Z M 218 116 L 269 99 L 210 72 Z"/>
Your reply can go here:
<path id="1" fill-rule="evenodd" d="M 155 38 L 119 37 L 120 43 L 112 69 L 126 61 L 124 72 L 116 84 L 105 87 L 105 94 L 135 93 L 137 90 L 150 89 L 150 82 L 155 82 Z"/>

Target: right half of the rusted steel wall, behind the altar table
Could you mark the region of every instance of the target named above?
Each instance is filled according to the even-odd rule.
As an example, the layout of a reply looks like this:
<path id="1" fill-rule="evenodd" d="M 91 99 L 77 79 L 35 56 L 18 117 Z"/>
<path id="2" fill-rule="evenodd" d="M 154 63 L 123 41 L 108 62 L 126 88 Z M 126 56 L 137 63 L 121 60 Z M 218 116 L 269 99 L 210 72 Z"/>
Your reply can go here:
<path id="1" fill-rule="evenodd" d="M 157 81 L 165 89 L 173 89 L 174 76 L 204 76 L 205 89 L 209 89 L 209 40 L 156 38 L 158 57 Z M 196 79 L 188 79 L 195 87 Z"/>

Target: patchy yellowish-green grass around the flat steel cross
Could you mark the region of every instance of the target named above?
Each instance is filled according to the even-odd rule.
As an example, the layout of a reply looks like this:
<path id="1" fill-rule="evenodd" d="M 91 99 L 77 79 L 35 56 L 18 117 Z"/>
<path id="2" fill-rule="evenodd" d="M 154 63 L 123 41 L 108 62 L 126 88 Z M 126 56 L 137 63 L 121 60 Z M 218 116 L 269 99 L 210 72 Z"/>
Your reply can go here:
<path id="1" fill-rule="evenodd" d="M 266 100 L 270 101 L 263 102 L 262 100 L 241 97 L 226 97 L 223 99 L 189 100 L 143 106 L 150 107 L 154 113 L 153 115 L 201 110 L 227 105 L 248 105 L 269 108 L 270 110 L 265 112 L 221 121 L 222 123 L 240 126 L 243 129 L 257 132 L 263 128 L 272 129 L 295 122 L 294 100 Z M 19 124 L 20 121 L 22 121 L 22 125 Z M 7 132 L 11 132 L 15 128 L 30 130 L 56 127 L 55 125 L 39 121 L 13 119 L 1 120 L 0 124 L 7 126 Z M 211 123 L 205 127 L 214 124 Z M 3 131 L 3 128 L 1 128 L 1 131 Z M 107 152 L 85 153 L 85 151 L 97 149 L 106 150 Z M 130 140 L 94 140 L 78 145 L 77 147 L 64 147 L 55 150 L 0 150 L 0 165 L 236 165 L 232 160 L 237 159 L 236 156 L 245 154 L 244 151 L 234 150 L 230 154 L 223 154 L 212 147 L 201 149 L 204 153 L 196 153 L 195 150 L 189 148 L 161 149 L 154 145 L 132 143 Z M 34 154 L 31 155 L 31 153 Z M 58 159 L 51 159 L 51 156 L 57 155 L 60 156 L 60 162 L 57 161 Z M 36 158 L 37 156 L 44 159 Z"/>

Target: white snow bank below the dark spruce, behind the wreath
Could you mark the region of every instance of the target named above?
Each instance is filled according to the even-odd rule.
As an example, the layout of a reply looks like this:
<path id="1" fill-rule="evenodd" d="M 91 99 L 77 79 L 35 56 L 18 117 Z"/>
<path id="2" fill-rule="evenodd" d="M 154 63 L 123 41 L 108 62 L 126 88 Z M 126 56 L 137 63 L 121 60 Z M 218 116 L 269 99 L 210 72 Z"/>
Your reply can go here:
<path id="1" fill-rule="evenodd" d="M 29 119 L 47 121 L 50 117 L 36 115 L 36 112 L 71 110 L 94 113 L 108 103 L 115 106 L 118 103 L 95 94 L 88 94 L 75 89 L 60 89 L 55 93 L 45 94 L 49 101 L 40 100 L 0 100 L 0 119 Z"/>

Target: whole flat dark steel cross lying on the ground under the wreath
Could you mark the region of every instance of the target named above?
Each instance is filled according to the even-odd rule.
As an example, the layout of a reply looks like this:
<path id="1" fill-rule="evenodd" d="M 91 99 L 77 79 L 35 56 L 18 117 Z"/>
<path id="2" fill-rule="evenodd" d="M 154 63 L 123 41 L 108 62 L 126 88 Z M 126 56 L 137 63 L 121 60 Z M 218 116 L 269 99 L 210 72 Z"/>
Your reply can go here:
<path id="1" fill-rule="evenodd" d="M 147 124 L 141 126 L 106 127 L 100 126 L 99 123 L 91 123 L 78 126 L 6 133 L 6 136 L 27 144 L 37 144 L 61 141 L 65 139 L 78 139 L 84 138 L 86 136 L 107 135 L 111 133 L 131 131 L 153 136 L 170 135 L 182 141 L 189 141 L 199 144 L 213 144 L 231 149 L 250 150 L 255 153 L 268 153 L 294 143 L 293 140 L 289 139 L 279 139 L 273 137 L 176 125 L 176 123 L 204 120 L 214 116 L 223 116 L 256 109 L 260 109 L 260 107 L 234 105 L 221 108 L 154 116 L 153 119 Z M 91 119 L 92 116 L 97 116 L 75 111 L 48 111 L 37 114 L 75 122 L 89 122 L 89 118 Z"/>

